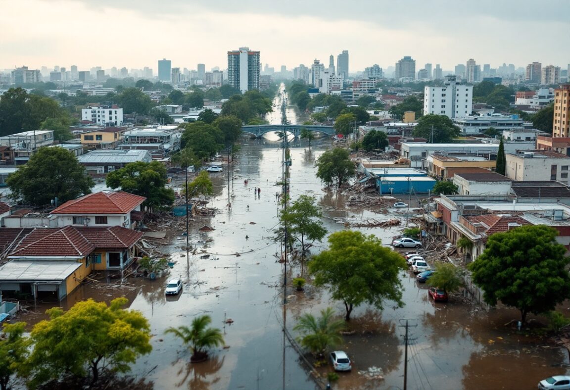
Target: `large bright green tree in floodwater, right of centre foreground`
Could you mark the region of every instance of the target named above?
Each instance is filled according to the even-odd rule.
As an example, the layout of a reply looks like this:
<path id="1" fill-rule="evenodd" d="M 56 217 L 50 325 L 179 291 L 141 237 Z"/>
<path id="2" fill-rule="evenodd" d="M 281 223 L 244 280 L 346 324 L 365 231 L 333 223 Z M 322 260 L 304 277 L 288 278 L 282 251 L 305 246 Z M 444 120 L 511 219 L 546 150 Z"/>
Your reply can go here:
<path id="1" fill-rule="evenodd" d="M 328 286 L 332 298 L 343 301 L 347 321 L 353 308 L 365 302 L 379 310 L 384 299 L 404 306 L 399 273 L 406 262 L 399 253 L 360 231 L 337 231 L 328 242 L 329 249 L 312 258 L 309 270 L 315 286 Z"/>

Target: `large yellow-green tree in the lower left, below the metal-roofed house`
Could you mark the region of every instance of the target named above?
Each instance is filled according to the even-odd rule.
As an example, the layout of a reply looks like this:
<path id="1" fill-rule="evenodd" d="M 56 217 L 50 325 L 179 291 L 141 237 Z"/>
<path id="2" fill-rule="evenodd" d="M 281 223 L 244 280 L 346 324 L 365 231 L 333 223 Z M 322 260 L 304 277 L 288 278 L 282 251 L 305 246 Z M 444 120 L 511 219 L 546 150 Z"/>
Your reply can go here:
<path id="1" fill-rule="evenodd" d="M 129 371 L 129 364 L 152 346 L 148 321 L 139 311 L 121 308 L 127 303 L 127 298 L 116 298 L 107 306 L 88 299 L 67 312 L 60 307 L 47 310 L 50 319 L 37 323 L 30 335 L 30 388 L 64 375 L 90 375 L 93 386 L 103 369 Z"/>

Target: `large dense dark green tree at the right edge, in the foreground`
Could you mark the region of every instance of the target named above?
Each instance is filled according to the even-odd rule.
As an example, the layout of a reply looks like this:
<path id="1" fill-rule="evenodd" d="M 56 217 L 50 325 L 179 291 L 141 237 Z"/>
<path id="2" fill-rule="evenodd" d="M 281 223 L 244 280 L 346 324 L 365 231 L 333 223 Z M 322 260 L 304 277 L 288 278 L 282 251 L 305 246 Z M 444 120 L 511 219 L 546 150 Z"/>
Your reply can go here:
<path id="1" fill-rule="evenodd" d="M 542 314 L 570 298 L 570 257 L 555 241 L 558 232 L 545 225 L 516 227 L 492 234 L 486 249 L 470 264 L 473 282 L 490 305 L 502 302 L 520 311 Z"/>

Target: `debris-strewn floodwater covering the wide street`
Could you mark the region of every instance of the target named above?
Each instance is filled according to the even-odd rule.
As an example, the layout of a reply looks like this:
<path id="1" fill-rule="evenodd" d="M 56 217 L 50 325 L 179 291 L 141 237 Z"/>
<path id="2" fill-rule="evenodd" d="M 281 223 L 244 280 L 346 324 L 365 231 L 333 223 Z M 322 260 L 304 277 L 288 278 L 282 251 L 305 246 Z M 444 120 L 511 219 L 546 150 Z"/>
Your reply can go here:
<path id="1" fill-rule="evenodd" d="M 273 115 L 279 116 L 274 108 Z M 291 197 L 311 194 L 324 210 L 324 223 L 329 233 L 344 229 L 333 218 L 389 218 L 402 213 L 390 209 L 388 215 L 344 207 L 345 197 L 325 192 L 315 177 L 317 157 L 331 147 L 331 141 L 313 141 L 308 149 L 304 141 L 292 143 Z M 297 145 L 297 146 L 296 146 Z M 197 248 L 186 266 L 186 237 L 177 237 L 160 250 L 177 261 L 168 277 L 156 281 L 128 279 L 126 287 L 104 288 L 84 285 L 63 302 L 71 306 L 77 300 L 94 297 L 111 299 L 125 295 L 130 308 L 140 310 L 152 328 L 153 351 L 133 365 L 132 374 L 153 381 L 156 389 L 315 389 L 307 365 L 298 352 L 284 339 L 282 324 L 292 328 L 304 312 L 319 315 L 321 308 L 331 306 L 344 315 L 341 302 L 329 299 L 328 292 L 308 283 L 306 291 L 291 288 L 298 267 L 288 267 L 287 305 L 283 311 L 283 265 L 278 262 L 281 248 L 272 239 L 277 227 L 283 151 L 279 143 L 249 140 L 241 145 L 230 172 L 211 173 L 217 190 L 208 207 L 221 210 L 214 217 L 190 220 L 190 244 Z M 244 180 L 248 184 L 244 184 Z M 261 189 L 256 196 L 254 188 Z M 230 198 L 228 198 L 228 194 Z M 227 207 L 231 202 L 231 209 Z M 248 207 L 249 206 L 249 207 Z M 203 225 L 215 230 L 199 231 Z M 401 227 L 362 228 L 389 245 Z M 247 239 L 246 239 L 247 235 Z M 325 249 L 320 243 L 312 249 Z M 168 278 L 178 276 L 185 281 L 182 293 L 165 297 Z M 189 277 L 189 279 L 188 279 Z M 534 389 L 540 379 L 568 370 L 557 365 L 568 363 L 567 352 L 545 347 L 534 338 L 505 327 L 519 318 L 516 310 L 482 310 L 478 306 L 451 299 L 434 304 L 428 299 L 427 287 L 418 285 L 413 274 L 401 274 L 404 286 L 403 308 L 385 302 L 384 311 L 363 305 L 355 308 L 351 327 L 355 334 L 344 337 L 344 350 L 353 360 L 349 373 L 339 373 L 333 383 L 339 389 L 401 389 L 404 375 L 404 327 L 409 320 L 408 388 L 409 389 Z M 45 306 L 24 316 L 34 322 Z M 29 307 L 29 310 L 34 310 Z M 209 314 L 212 325 L 223 329 L 227 348 L 216 348 L 206 363 L 190 364 L 190 352 L 168 327 L 188 326 L 193 316 Z M 227 319 L 233 323 L 226 324 Z M 378 367 L 383 380 L 368 380 L 359 371 Z M 331 366 L 318 369 L 331 371 Z M 326 379 L 323 380 L 326 383 Z"/>

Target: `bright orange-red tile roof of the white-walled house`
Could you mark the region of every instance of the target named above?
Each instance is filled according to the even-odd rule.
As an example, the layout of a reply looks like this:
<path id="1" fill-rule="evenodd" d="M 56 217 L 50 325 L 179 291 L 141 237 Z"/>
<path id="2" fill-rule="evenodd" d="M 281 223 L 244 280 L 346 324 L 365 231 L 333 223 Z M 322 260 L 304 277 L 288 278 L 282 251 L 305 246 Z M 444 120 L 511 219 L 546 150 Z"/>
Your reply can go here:
<path id="1" fill-rule="evenodd" d="M 96 192 L 65 202 L 52 214 L 127 214 L 146 200 L 123 191 Z"/>

